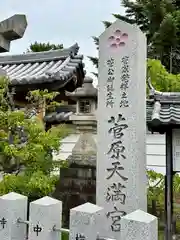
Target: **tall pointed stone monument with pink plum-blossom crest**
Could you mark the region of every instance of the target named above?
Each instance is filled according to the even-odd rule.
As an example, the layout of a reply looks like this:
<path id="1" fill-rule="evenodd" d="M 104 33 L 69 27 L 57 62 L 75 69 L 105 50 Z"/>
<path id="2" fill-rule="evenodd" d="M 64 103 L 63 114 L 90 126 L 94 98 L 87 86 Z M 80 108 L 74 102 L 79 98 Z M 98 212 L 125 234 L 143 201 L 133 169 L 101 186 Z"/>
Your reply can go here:
<path id="1" fill-rule="evenodd" d="M 147 209 L 146 49 L 141 30 L 120 20 L 99 38 L 96 204 L 117 240 L 121 217 Z"/>

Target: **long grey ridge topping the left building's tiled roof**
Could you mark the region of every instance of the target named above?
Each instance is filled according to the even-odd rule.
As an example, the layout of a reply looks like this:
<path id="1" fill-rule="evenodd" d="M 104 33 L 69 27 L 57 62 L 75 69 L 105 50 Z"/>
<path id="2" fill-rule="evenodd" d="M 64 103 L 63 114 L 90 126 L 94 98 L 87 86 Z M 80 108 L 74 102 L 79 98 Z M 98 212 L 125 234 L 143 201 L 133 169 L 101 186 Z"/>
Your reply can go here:
<path id="1" fill-rule="evenodd" d="M 69 48 L 43 51 L 43 52 L 31 52 L 26 54 L 13 54 L 13 55 L 0 55 L 0 64 L 13 64 L 23 63 L 31 61 L 45 61 L 54 59 L 63 59 L 68 56 L 76 55 L 78 53 L 79 46 L 77 43 Z"/>

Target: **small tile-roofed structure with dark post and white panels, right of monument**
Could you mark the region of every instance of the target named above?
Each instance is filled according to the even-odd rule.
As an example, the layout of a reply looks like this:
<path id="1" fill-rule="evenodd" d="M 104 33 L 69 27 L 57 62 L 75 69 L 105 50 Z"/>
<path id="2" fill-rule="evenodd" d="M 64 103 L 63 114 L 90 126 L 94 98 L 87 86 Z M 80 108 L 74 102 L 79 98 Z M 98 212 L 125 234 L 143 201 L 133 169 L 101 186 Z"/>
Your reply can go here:
<path id="1" fill-rule="evenodd" d="M 180 126 L 180 93 L 159 92 L 153 88 L 150 82 L 148 84 L 150 96 L 146 103 L 147 127 L 149 131 L 156 133 L 157 138 L 154 138 L 156 145 L 154 145 L 152 151 L 159 154 L 156 158 L 152 158 L 151 162 L 162 165 L 164 173 L 166 155 L 169 155 L 168 158 L 171 158 L 170 161 L 173 166 L 172 171 L 179 172 L 180 138 L 178 129 Z"/>

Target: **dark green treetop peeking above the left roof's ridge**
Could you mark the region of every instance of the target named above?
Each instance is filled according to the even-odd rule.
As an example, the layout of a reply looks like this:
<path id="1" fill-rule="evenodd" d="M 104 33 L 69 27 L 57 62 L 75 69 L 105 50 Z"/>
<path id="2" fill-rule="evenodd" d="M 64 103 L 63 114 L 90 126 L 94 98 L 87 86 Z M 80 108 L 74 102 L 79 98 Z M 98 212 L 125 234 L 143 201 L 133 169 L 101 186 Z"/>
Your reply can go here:
<path id="1" fill-rule="evenodd" d="M 27 52 L 44 52 L 44 51 L 50 51 L 50 50 L 57 50 L 62 49 L 63 44 L 51 44 L 51 43 L 40 43 L 35 42 L 30 45 L 29 49 L 27 49 Z"/>

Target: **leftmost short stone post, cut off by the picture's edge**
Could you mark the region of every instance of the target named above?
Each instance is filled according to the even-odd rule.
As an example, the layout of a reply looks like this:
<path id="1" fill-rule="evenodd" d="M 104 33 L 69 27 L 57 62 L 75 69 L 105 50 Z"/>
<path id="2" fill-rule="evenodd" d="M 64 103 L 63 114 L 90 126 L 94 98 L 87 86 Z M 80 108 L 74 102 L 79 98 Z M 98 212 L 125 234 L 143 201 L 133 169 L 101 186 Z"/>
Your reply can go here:
<path id="1" fill-rule="evenodd" d="M 0 239 L 26 239 L 26 225 L 18 219 L 27 220 L 27 197 L 11 192 L 0 197 Z"/>

